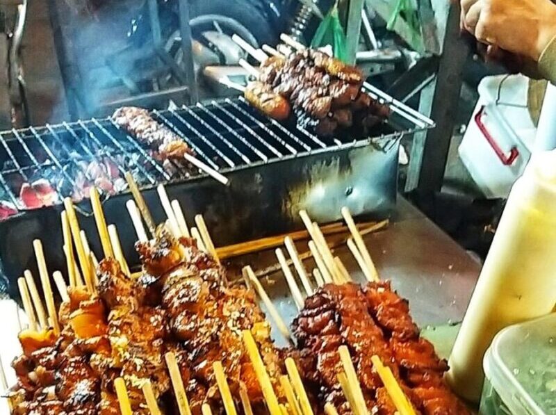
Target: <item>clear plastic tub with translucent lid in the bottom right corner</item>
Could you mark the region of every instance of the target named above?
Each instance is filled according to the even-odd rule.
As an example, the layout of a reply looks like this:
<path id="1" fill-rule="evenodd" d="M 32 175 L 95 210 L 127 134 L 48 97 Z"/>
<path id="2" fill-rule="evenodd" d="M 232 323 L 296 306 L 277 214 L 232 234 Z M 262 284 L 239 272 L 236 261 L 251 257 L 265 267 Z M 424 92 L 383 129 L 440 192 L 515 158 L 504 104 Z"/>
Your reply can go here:
<path id="1" fill-rule="evenodd" d="M 556 314 L 503 329 L 484 373 L 512 414 L 556 414 Z"/>

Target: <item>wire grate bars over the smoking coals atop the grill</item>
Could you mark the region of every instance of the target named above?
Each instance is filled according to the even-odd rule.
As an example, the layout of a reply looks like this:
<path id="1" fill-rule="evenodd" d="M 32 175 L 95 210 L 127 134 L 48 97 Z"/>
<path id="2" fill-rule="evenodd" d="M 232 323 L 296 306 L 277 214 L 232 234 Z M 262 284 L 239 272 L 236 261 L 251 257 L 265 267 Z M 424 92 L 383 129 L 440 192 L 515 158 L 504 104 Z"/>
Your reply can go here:
<path id="1" fill-rule="evenodd" d="M 270 120 L 241 98 L 153 114 L 216 170 L 341 144 Z M 0 133 L 0 202 L 9 202 L 17 210 L 57 204 L 67 196 L 81 200 L 92 185 L 119 193 L 128 170 L 142 186 L 183 179 L 176 175 L 178 166 L 156 160 L 150 149 L 110 119 Z M 38 201 L 29 204 L 29 195 Z"/>

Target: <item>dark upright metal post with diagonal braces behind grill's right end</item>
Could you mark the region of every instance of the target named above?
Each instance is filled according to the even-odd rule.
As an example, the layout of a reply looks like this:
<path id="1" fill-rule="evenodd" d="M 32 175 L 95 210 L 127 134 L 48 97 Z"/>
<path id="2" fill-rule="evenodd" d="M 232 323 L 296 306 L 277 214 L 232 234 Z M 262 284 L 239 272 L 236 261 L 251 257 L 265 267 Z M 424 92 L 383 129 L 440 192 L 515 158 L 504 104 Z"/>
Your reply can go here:
<path id="1" fill-rule="evenodd" d="M 379 16 L 389 19 L 393 2 L 366 1 Z M 457 2 L 422 0 L 418 2 L 418 13 L 423 49 L 416 51 L 423 57 L 387 92 L 402 102 L 419 95 L 418 111 L 430 115 L 436 123 L 436 128 L 418 131 L 414 136 L 404 188 L 406 192 L 416 188 L 435 192 L 441 190 L 443 184 L 463 83 L 462 72 L 470 48 L 460 35 Z M 394 30 L 411 44 L 409 29 L 401 19 Z"/>

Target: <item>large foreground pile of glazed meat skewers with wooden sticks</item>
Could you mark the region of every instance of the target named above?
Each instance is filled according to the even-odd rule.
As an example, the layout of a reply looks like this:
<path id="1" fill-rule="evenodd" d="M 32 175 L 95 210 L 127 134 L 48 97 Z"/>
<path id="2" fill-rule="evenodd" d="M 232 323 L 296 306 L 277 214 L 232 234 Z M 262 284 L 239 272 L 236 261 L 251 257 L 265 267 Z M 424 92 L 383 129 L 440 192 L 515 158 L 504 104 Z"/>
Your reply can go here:
<path id="1" fill-rule="evenodd" d="M 189 228 L 177 201 L 168 200 L 163 186 L 158 193 L 167 215 L 158 228 L 140 194 L 127 204 L 142 263 L 136 274 L 115 227 L 106 226 L 97 190 L 90 196 L 104 252 L 100 262 L 79 229 L 72 201 L 65 200 L 70 284 L 54 273 L 59 309 L 42 245 L 33 243 L 46 307 L 26 272 L 19 288 L 29 327 L 19 334 L 23 354 L 13 362 L 18 381 L 8 398 L 14 414 L 208 415 L 223 409 L 236 415 L 236 408 L 272 415 L 467 413 L 443 384 L 445 362 L 419 339 L 407 302 L 376 281 L 347 209 L 353 235 L 348 246 L 373 283 L 352 284 L 320 227 L 302 212 L 317 268 L 309 281 L 286 238 L 304 300 L 277 250 L 301 310 L 293 325 L 297 348 L 292 341 L 279 350 L 255 291 L 280 331 L 292 337 L 253 270 L 245 268 L 244 275 L 254 291 L 229 285 L 202 216 Z"/>

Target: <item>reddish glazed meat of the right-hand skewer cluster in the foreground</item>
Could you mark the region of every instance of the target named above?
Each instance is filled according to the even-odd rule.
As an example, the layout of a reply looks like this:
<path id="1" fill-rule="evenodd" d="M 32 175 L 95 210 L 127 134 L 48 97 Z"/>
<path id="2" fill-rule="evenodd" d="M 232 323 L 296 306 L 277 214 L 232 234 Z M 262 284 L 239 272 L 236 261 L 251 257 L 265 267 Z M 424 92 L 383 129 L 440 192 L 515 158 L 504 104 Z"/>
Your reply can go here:
<path id="1" fill-rule="evenodd" d="M 388 282 L 363 288 L 327 284 L 306 299 L 293 326 L 302 348 L 301 352 L 293 352 L 293 357 L 303 368 L 304 379 L 316 386 L 323 400 L 333 402 L 341 414 L 350 409 L 336 380 L 336 373 L 342 370 L 340 345 L 350 348 L 363 396 L 373 413 L 396 411 L 373 370 L 373 355 L 391 368 L 418 412 L 470 413 L 443 382 L 446 362 L 439 359 L 430 342 L 420 338 L 407 301 L 394 293 Z"/>

